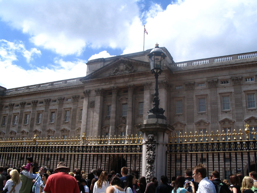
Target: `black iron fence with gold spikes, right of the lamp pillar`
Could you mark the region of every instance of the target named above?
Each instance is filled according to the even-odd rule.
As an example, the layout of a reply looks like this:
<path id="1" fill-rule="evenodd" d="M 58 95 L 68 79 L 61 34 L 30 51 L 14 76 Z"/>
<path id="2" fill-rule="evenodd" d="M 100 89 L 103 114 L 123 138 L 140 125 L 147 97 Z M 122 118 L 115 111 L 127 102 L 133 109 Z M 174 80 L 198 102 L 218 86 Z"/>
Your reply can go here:
<path id="1" fill-rule="evenodd" d="M 250 131 L 247 124 L 245 126 L 245 133 L 242 130 L 230 133 L 228 130 L 228 133 L 219 134 L 217 131 L 210 135 L 197 132 L 195 135 L 171 134 L 166 151 L 166 175 L 169 179 L 184 175 L 186 168 L 199 163 L 205 164 L 207 174 L 217 170 L 223 179 L 228 179 L 230 174 L 248 175 L 250 171 L 256 171 L 256 132 L 254 129 Z"/>

